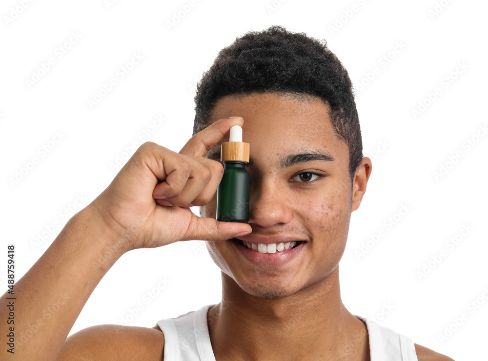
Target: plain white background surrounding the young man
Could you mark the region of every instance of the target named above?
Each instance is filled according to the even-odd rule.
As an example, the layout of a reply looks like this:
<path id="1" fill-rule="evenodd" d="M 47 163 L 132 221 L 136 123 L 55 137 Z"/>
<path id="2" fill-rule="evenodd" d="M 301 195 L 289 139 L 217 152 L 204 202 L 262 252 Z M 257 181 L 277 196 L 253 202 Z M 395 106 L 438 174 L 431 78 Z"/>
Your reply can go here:
<path id="1" fill-rule="evenodd" d="M 142 143 L 141 132 L 174 151 L 183 147 L 195 84 L 220 49 L 277 24 L 327 40 L 357 89 L 373 171 L 340 266 L 346 307 L 456 360 L 486 355 L 488 136 L 479 128 L 488 124 L 485 1 L 21 3 L 0 6 L 1 249 L 6 255 L 6 245 L 16 245 L 17 279 L 67 221 L 63 209 L 77 212 L 93 200 L 120 169 L 110 163 L 132 154 L 127 147 Z M 64 46 L 71 33 L 81 39 Z M 134 52 L 143 59 L 121 79 L 117 72 Z M 49 58 L 54 65 L 29 86 Z M 90 108 L 87 100 L 112 78 L 118 84 Z M 155 116 L 164 119 L 158 128 Z M 56 132 L 62 140 L 50 143 Z M 43 153 L 42 146 L 52 149 Z M 449 163 L 456 152 L 462 158 Z M 34 157 L 38 164 L 22 170 Z M 436 177 L 442 165 L 449 169 Z M 24 175 L 15 183 L 18 171 Z M 77 196 L 85 198 L 81 205 Z M 405 204 L 409 211 L 399 216 Z M 460 236 L 463 227 L 472 230 Z M 448 248 L 456 235 L 459 244 Z M 358 260 L 372 238 L 377 242 Z M 424 267 L 430 273 L 420 278 Z M 0 275 L 6 288 L 6 270 Z M 152 327 L 218 303 L 220 282 L 203 242 L 130 252 L 100 282 L 71 333 L 122 320 Z M 463 313 L 468 319 L 455 329 Z M 441 341 L 449 326 L 455 331 Z"/>

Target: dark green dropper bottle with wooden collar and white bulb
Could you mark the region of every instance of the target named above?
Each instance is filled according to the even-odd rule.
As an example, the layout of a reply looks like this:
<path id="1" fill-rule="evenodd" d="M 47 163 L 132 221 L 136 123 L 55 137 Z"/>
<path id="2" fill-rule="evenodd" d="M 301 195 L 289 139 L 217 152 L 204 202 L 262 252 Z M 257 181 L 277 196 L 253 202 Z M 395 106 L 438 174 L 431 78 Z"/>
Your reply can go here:
<path id="1" fill-rule="evenodd" d="M 243 142 L 243 128 L 230 128 L 229 141 L 222 143 L 221 158 L 224 175 L 217 188 L 217 221 L 249 221 L 249 173 L 244 166 L 249 163 L 249 143 Z"/>

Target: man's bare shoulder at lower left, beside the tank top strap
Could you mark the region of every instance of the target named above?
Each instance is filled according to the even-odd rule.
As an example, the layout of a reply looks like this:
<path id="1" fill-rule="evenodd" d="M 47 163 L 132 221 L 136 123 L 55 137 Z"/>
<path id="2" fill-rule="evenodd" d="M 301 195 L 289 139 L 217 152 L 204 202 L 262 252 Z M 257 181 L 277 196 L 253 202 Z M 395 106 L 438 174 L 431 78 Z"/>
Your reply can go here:
<path id="1" fill-rule="evenodd" d="M 163 360 L 164 335 L 159 327 L 98 325 L 66 339 L 58 361 Z"/>

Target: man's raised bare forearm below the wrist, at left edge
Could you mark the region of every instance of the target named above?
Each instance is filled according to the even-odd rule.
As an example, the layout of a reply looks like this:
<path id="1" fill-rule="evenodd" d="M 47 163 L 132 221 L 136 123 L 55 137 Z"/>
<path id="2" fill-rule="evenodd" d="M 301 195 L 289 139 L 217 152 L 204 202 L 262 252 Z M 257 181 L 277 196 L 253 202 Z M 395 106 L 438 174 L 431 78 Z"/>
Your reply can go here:
<path id="1" fill-rule="evenodd" d="M 3 296 L 15 297 L 15 323 L 5 325 L 15 328 L 19 360 L 56 360 L 88 297 L 125 250 L 90 206 L 66 224 L 14 294 Z M 0 308 L 1 320 L 8 312 Z"/>

